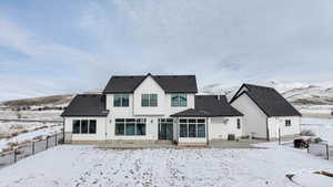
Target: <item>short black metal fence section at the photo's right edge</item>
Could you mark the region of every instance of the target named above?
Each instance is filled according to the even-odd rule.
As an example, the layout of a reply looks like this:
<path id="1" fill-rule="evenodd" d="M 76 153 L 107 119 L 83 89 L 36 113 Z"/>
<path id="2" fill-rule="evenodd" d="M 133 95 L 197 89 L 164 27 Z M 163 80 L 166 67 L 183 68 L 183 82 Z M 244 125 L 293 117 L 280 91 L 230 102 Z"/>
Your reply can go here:
<path id="1" fill-rule="evenodd" d="M 325 142 L 309 144 L 307 153 L 325 159 L 333 159 L 333 146 Z"/>

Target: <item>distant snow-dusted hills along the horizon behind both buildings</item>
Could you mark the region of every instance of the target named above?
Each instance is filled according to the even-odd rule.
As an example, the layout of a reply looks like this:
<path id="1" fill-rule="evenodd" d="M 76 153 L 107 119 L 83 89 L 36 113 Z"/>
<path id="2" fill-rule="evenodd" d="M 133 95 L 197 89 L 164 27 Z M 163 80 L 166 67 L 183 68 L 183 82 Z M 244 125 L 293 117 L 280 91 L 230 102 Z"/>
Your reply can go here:
<path id="1" fill-rule="evenodd" d="M 255 84 L 255 83 L 254 83 Z M 333 108 L 333 82 L 316 84 L 286 83 L 269 81 L 261 85 L 276 89 L 286 100 L 299 108 L 321 107 Z M 225 87 L 223 84 L 210 84 L 202 86 L 199 94 L 225 94 L 229 98 L 238 91 L 239 86 Z M 87 93 L 101 93 L 100 90 L 88 91 Z M 37 98 L 16 100 L 3 102 L 8 107 L 16 106 L 67 106 L 74 95 L 52 95 Z"/>

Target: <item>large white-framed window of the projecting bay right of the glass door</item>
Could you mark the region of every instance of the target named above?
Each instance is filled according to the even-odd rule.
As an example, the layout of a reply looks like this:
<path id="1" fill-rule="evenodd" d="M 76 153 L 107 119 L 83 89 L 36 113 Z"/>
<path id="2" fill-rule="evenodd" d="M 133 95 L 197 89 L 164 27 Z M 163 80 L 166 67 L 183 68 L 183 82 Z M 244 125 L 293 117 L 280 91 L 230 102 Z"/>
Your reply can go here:
<path id="1" fill-rule="evenodd" d="M 205 120 L 181 118 L 180 137 L 205 137 Z"/>

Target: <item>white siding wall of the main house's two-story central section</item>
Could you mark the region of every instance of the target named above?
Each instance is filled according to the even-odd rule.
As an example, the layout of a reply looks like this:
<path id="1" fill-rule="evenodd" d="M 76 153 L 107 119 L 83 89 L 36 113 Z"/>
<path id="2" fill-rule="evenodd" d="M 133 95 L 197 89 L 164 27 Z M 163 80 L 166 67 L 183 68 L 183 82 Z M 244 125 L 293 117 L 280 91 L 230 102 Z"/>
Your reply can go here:
<path id="1" fill-rule="evenodd" d="M 142 94 L 158 94 L 158 106 L 142 106 Z M 151 77 L 148 76 L 135 89 L 134 93 L 129 93 L 129 106 L 113 106 L 114 94 L 107 94 L 107 110 L 110 111 L 107 120 L 107 139 L 125 141 L 158 141 L 159 118 L 168 118 L 171 114 L 194 108 L 194 93 L 186 94 L 186 106 L 171 106 L 171 95 Z M 147 135 L 144 136 L 119 136 L 115 135 L 115 118 L 145 118 Z M 176 138 L 176 124 L 174 124 L 174 139 Z"/>

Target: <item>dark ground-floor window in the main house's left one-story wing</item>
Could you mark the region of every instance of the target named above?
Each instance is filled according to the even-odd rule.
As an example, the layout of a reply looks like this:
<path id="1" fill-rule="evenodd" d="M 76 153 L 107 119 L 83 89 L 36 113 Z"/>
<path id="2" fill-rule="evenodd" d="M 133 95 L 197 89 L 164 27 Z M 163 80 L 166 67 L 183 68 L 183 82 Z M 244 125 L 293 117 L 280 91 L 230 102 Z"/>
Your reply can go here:
<path id="1" fill-rule="evenodd" d="M 95 134 L 95 120 L 74 120 L 73 134 Z"/>

